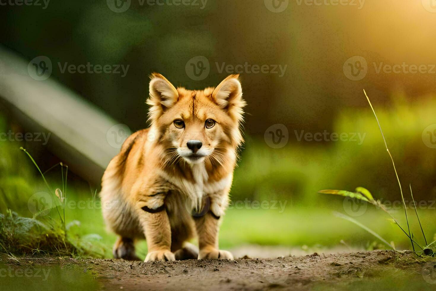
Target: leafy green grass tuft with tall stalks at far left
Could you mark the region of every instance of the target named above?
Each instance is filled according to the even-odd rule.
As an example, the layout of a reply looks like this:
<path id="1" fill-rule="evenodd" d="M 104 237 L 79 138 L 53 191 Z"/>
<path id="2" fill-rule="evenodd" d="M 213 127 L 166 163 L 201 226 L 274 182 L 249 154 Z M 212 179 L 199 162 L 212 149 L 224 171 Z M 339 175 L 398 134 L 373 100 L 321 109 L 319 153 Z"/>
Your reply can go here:
<path id="1" fill-rule="evenodd" d="M 52 195 L 54 201 L 58 202 L 55 202 L 54 206 L 49 209 L 41 209 L 31 218 L 22 217 L 11 209 L 7 209 L 5 214 L 0 213 L 0 253 L 7 253 L 10 256 L 44 254 L 72 257 L 103 257 L 105 249 L 99 243 L 100 237 L 98 235 L 89 234 L 79 236 L 69 233 L 71 226 L 80 225 L 78 222 L 73 224 L 69 223 L 68 227 L 65 225 L 68 166 L 60 163 L 62 190 L 56 188 L 55 191 L 52 191 L 51 186 L 44 176 L 45 172 L 43 173 L 41 171 L 31 154 L 23 147 L 20 147 L 20 150 L 24 151 L 31 159 L 31 162 L 41 174 L 50 195 Z M 63 172 L 64 167 L 66 168 L 65 178 Z M 8 195 L 3 189 L 2 193 L 3 199 L 9 201 L 7 199 Z M 59 207 L 61 207 L 63 215 L 59 212 Z M 59 219 L 54 219 L 50 216 L 53 208 L 56 208 Z"/>

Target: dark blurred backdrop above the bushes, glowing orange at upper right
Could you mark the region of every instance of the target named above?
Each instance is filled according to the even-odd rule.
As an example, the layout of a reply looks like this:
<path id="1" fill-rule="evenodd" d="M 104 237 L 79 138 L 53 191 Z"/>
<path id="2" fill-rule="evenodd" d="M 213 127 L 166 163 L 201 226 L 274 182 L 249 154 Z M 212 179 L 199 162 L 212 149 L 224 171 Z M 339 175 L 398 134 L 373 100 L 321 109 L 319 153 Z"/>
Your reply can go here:
<path id="1" fill-rule="evenodd" d="M 146 126 L 148 75 L 157 71 L 175 86 L 203 89 L 218 85 L 228 75 L 219 72 L 215 63 L 287 66 L 283 77 L 242 73 L 248 102 L 245 129 L 250 136 L 261 136 L 275 123 L 332 130 L 344 108 L 366 107 L 366 100 L 360 98 L 362 89 L 371 93 L 374 104 L 387 104 L 392 89 L 403 88 L 416 102 L 433 91 L 432 74 L 377 74 L 372 64 L 436 63 L 434 19 L 419 3 L 403 3 L 404 9 L 386 17 L 391 4 L 383 1 L 365 3 L 361 10 L 291 1 L 282 13 L 272 13 L 259 0 L 208 0 L 203 9 L 202 5 L 141 2 L 131 1 L 123 13 L 110 10 L 106 1 L 51 1 L 46 9 L 4 6 L 1 43 L 29 61 L 48 56 L 53 64 L 51 78 L 132 130 Z M 420 21 L 409 21 L 410 17 Z M 406 38 L 410 41 L 404 42 Z M 198 55 L 211 65 L 202 81 L 190 79 L 185 72 L 188 60 Z M 368 62 L 368 74 L 359 82 L 343 72 L 344 62 L 354 55 Z M 123 64 L 129 65 L 129 71 L 124 78 L 61 73 L 58 62 L 62 66 Z"/>

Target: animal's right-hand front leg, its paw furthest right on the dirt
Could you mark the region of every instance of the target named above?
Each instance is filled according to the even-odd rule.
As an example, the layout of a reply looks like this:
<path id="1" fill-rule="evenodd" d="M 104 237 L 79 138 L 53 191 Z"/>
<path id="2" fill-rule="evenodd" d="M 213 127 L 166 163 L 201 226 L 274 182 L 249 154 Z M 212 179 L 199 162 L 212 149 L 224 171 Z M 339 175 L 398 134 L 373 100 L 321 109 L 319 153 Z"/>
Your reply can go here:
<path id="1" fill-rule="evenodd" d="M 232 253 L 218 249 L 218 232 L 227 205 L 227 194 L 209 195 L 203 199 L 200 212 L 193 212 L 198 236 L 198 259 L 233 260 Z"/>

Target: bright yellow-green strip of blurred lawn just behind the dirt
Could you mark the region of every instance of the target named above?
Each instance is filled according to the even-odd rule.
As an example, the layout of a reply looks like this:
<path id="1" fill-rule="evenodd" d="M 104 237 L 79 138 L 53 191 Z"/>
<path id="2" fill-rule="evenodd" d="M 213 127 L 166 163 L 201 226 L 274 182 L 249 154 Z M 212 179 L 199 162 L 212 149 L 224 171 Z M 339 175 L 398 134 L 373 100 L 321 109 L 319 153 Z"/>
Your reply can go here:
<path id="1" fill-rule="evenodd" d="M 342 200 L 337 200 L 334 209 L 344 212 Z M 421 223 L 427 226 L 426 234 L 431 237 L 436 233 L 433 223 L 435 214 L 435 211 L 427 210 L 422 212 L 421 217 Z M 397 215 L 401 216 L 401 210 Z M 68 217 L 82 222 L 75 229 L 78 234 L 96 233 L 101 236 L 101 243 L 106 246 L 106 257 L 111 257 L 116 236 L 105 231 L 99 211 L 74 210 L 68 212 Z M 357 220 L 382 234 L 389 242 L 394 241 L 397 249 L 407 249 L 408 238 L 389 223 L 388 218 L 388 215 L 368 207 L 367 212 Z M 413 227 L 419 227 L 417 221 L 411 223 Z M 219 236 L 220 247 L 225 249 L 244 244 L 329 248 L 341 244 L 341 240 L 348 246 L 365 249 L 376 239 L 354 224 L 334 216 L 331 208 L 324 207 L 290 207 L 283 213 L 274 209 L 230 209 L 223 219 Z M 139 244 L 138 253 L 140 257 L 145 257 L 145 242 Z"/>

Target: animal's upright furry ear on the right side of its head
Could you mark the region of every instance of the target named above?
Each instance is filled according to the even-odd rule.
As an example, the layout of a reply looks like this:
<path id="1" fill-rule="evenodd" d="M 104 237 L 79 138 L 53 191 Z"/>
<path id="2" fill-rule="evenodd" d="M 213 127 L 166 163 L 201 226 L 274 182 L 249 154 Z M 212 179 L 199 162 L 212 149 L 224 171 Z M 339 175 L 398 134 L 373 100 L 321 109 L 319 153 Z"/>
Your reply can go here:
<path id="1" fill-rule="evenodd" d="M 218 106 L 226 110 L 230 117 L 236 121 L 242 121 L 242 110 L 245 101 L 242 99 L 242 86 L 239 75 L 229 75 L 212 93 L 212 99 Z"/>

